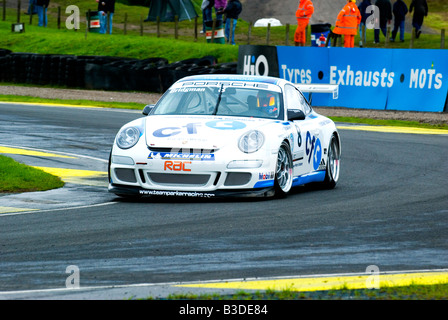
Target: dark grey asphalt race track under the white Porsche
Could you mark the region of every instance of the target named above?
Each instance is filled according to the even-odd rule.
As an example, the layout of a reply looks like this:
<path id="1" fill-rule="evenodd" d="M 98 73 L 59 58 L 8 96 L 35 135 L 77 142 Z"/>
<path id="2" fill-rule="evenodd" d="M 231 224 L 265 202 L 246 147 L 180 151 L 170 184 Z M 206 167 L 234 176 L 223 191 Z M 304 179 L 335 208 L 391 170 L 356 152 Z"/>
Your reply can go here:
<path id="1" fill-rule="evenodd" d="M 104 173 L 116 132 L 139 116 L 0 104 L 0 153 L 90 173 L 0 196 L 0 293 L 65 288 L 69 266 L 85 287 L 448 266 L 447 135 L 340 129 L 334 190 L 127 201 L 107 192 Z"/>

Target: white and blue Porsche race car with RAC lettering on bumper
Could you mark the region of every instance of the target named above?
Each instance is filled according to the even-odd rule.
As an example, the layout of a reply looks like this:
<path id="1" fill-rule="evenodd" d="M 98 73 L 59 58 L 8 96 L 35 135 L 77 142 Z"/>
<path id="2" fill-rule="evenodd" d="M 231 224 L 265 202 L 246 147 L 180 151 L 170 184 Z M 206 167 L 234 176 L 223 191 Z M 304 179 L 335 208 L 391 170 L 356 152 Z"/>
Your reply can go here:
<path id="1" fill-rule="evenodd" d="M 291 82 L 190 76 L 118 132 L 109 191 L 119 196 L 285 196 L 339 178 L 341 141 Z"/>

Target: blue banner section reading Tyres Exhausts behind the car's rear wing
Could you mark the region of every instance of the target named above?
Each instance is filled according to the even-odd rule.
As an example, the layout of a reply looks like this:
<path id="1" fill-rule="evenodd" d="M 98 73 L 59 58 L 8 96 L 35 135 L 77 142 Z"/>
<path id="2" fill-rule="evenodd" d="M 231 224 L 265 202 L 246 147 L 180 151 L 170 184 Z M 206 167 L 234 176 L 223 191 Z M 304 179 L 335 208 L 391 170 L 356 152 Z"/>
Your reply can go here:
<path id="1" fill-rule="evenodd" d="M 316 94 L 313 106 L 385 108 L 393 84 L 387 50 L 287 46 L 277 50 L 281 78 L 294 83 L 339 85 L 337 100 L 329 94 Z"/>

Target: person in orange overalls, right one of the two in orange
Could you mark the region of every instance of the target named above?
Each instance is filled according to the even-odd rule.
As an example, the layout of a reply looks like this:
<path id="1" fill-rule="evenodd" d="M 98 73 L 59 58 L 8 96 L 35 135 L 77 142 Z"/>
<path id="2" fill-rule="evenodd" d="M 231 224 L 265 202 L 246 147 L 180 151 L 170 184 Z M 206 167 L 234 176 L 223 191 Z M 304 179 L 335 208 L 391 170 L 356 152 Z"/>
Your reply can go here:
<path id="1" fill-rule="evenodd" d="M 344 35 L 345 48 L 355 46 L 355 35 L 358 33 L 360 23 L 361 13 L 356 6 L 356 0 L 347 0 L 347 4 L 338 14 L 336 26 L 333 29 L 333 33 Z"/>

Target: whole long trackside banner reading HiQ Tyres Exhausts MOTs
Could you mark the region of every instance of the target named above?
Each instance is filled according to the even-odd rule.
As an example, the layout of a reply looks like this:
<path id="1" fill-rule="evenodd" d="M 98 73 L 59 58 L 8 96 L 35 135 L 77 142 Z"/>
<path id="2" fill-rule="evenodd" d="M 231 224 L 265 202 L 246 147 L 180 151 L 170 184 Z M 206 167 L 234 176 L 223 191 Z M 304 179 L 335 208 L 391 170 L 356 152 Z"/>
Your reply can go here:
<path id="1" fill-rule="evenodd" d="M 245 58 L 240 67 L 240 49 L 238 68 L 249 70 L 254 65 L 253 70 L 262 70 L 257 58 L 247 53 L 248 47 L 260 46 L 243 47 L 250 59 Z M 315 94 L 313 106 L 427 112 L 446 108 L 447 50 L 278 46 L 276 51 L 269 56 L 278 59 L 280 78 L 295 84 L 339 85 L 338 99 L 332 99 L 331 94 Z M 263 64 L 272 69 L 274 61 Z"/>

